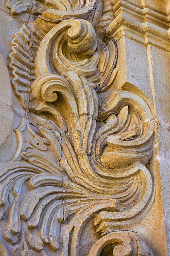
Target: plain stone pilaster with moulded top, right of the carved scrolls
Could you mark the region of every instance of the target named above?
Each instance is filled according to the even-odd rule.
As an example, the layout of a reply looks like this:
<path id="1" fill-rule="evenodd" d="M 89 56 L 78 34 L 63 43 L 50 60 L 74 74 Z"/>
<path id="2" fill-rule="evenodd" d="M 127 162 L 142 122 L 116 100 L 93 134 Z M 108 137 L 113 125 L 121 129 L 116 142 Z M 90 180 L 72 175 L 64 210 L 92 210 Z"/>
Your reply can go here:
<path id="1" fill-rule="evenodd" d="M 147 232 L 150 237 L 159 237 L 157 242 L 165 247 L 165 223 L 169 255 L 169 3 L 121 0 L 113 0 L 113 3 L 115 19 L 106 30 L 116 40 L 119 49 L 119 72 L 113 87 L 122 90 L 136 87 L 153 105 L 154 153 L 149 170 L 154 177 L 156 197 L 153 209 L 146 217 L 149 219 Z M 144 225 L 142 221 L 146 220 L 141 220 L 141 226 Z"/>

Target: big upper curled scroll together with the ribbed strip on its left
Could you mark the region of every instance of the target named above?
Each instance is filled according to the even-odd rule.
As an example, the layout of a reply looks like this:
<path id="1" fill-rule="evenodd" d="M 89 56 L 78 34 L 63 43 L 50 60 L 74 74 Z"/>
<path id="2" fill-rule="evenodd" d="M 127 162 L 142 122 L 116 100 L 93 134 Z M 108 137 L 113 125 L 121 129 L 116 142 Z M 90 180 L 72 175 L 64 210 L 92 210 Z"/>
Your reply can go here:
<path id="1" fill-rule="evenodd" d="M 89 82 L 93 82 L 92 86 L 97 90 L 103 87 L 103 83 L 104 89 L 109 88 L 117 75 L 118 69 L 112 70 L 117 61 L 117 55 L 115 59 L 112 54 L 115 52 L 113 41 L 108 41 L 106 45 L 96 39 L 94 28 L 88 21 L 71 19 L 70 23 L 63 21 L 53 27 L 44 38 L 36 28 L 32 29 L 27 25 L 23 25 L 20 31 L 14 34 L 9 67 L 12 71 L 14 93 L 24 109 L 31 92 L 30 86 L 37 75 L 59 72 L 66 76 L 69 70 L 74 70 L 86 76 Z M 44 32 L 44 35 L 47 32 Z M 51 44 L 53 41 L 55 45 Z M 66 44 L 69 47 L 66 47 Z M 44 51 L 46 46 L 48 51 L 52 51 L 49 56 Z"/>

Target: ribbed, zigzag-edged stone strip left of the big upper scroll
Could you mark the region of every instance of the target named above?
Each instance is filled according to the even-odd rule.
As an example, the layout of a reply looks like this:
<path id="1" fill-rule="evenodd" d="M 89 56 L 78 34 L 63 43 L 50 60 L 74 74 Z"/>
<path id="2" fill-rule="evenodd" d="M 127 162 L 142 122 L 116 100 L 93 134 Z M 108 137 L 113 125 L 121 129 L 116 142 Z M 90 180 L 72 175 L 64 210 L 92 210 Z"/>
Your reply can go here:
<path id="1" fill-rule="evenodd" d="M 42 40 L 41 34 L 37 33 L 35 36 L 24 24 L 19 32 L 14 34 L 11 42 L 12 51 L 9 55 L 9 68 L 12 73 L 11 83 L 14 93 L 24 109 L 27 106 L 31 83 L 36 79 L 35 54 L 40 40 Z"/>

